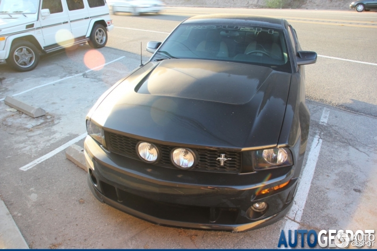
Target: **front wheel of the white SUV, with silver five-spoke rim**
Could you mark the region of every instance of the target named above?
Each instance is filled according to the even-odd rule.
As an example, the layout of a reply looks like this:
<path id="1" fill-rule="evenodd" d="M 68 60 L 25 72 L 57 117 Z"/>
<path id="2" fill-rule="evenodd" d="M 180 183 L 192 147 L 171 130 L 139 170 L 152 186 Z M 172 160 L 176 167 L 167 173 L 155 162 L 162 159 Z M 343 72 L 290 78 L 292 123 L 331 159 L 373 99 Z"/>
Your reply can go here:
<path id="1" fill-rule="evenodd" d="M 29 41 L 17 41 L 12 45 L 6 63 L 18 72 L 28 72 L 37 67 L 39 56 L 34 44 Z"/>

